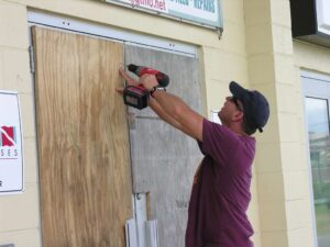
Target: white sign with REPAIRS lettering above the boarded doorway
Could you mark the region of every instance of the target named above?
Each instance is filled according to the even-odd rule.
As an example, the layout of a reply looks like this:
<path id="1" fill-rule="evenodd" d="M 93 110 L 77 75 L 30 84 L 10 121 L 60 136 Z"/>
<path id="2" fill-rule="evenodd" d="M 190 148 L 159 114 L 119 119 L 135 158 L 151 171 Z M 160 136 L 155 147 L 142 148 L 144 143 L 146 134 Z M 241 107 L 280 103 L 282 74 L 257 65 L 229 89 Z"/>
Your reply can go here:
<path id="1" fill-rule="evenodd" d="M 180 21 L 221 30 L 221 0 L 106 0 Z"/>

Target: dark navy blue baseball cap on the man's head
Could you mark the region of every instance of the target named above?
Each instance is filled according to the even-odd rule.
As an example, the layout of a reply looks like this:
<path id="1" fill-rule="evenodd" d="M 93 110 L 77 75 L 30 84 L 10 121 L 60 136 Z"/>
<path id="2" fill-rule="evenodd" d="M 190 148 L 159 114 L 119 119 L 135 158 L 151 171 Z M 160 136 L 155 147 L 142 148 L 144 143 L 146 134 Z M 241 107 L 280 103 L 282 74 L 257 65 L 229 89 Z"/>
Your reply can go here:
<path id="1" fill-rule="evenodd" d="M 258 91 L 250 91 L 238 82 L 231 81 L 229 90 L 243 104 L 244 120 L 249 127 L 263 132 L 270 117 L 267 99 Z"/>

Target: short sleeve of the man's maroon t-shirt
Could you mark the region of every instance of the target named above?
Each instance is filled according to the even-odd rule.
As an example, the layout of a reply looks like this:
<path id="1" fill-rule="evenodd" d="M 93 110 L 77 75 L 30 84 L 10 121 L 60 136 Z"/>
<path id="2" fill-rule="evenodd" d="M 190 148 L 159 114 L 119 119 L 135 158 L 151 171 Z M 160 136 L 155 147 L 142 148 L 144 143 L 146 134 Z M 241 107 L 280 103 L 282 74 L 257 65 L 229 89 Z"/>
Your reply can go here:
<path id="1" fill-rule="evenodd" d="M 204 119 L 200 145 L 202 154 L 210 155 L 217 164 L 224 166 L 234 156 L 239 145 L 238 135 L 230 128 Z"/>

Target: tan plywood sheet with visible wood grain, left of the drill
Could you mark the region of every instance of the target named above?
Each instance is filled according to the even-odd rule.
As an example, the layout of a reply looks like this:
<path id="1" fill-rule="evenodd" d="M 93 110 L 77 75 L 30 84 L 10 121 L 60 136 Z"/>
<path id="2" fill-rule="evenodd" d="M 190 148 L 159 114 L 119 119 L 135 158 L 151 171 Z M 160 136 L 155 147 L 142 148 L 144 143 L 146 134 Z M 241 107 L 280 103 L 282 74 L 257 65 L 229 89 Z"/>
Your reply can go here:
<path id="1" fill-rule="evenodd" d="M 132 217 L 119 43 L 33 27 L 44 247 L 123 247 Z"/>

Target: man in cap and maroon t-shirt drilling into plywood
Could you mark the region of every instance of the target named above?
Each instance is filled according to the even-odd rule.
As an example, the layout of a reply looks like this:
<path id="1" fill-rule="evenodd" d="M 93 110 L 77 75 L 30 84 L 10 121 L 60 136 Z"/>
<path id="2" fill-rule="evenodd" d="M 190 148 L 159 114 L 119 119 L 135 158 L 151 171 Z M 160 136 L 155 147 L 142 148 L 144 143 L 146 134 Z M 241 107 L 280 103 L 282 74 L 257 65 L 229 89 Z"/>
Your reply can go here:
<path id="1" fill-rule="evenodd" d="M 128 85 L 139 83 L 122 69 L 119 72 Z M 176 96 L 157 89 L 155 76 L 144 75 L 140 83 L 151 92 L 148 105 L 153 111 L 197 139 L 205 155 L 194 179 L 186 247 L 252 247 L 253 229 L 246 216 L 255 153 L 255 138 L 251 135 L 256 130 L 262 132 L 268 120 L 265 97 L 232 81 L 232 97 L 227 97 L 218 113 L 220 125 L 193 111 Z"/>

